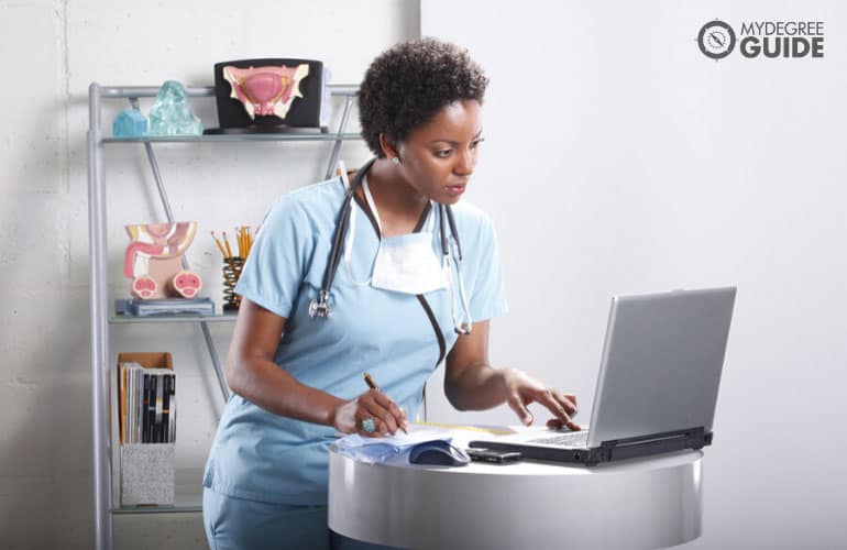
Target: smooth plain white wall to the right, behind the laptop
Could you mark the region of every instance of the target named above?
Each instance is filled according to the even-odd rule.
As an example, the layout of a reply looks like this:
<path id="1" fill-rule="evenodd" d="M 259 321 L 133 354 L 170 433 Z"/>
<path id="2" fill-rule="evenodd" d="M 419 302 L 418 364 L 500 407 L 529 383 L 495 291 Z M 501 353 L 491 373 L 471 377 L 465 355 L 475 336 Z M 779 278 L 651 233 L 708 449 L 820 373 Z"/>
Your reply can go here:
<path id="1" fill-rule="evenodd" d="M 707 59 L 715 18 L 824 21 L 825 57 Z M 587 422 L 613 294 L 737 285 L 705 532 L 685 548 L 847 546 L 847 9 L 424 0 L 421 34 L 492 80 L 468 199 L 505 264 L 494 362 L 574 391 Z M 515 422 L 443 400 L 430 416 Z"/>

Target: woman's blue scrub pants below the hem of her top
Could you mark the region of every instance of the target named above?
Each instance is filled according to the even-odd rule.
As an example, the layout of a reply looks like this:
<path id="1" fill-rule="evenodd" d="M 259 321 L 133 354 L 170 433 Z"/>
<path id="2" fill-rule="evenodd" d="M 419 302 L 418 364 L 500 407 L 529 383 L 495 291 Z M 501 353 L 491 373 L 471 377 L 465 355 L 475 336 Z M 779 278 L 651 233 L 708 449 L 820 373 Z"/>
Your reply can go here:
<path id="1" fill-rule="evenodd" d="M 202 492 L 202 522 L 211 550 L 387 550 L 330 531 L 326 506 L 257 503 Z"/>

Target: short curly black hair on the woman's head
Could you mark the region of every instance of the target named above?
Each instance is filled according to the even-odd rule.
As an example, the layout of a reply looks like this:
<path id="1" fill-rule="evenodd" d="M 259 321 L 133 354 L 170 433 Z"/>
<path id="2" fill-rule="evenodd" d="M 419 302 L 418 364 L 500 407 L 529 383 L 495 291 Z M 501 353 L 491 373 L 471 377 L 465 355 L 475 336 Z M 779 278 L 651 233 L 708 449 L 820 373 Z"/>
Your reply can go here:
<path id="1" fill-rule="evenodd" d="M 403 142 L 454 101 L 482 103 L 488 79 L 466 50 L 436 38 L 402 42 L 376 57 L 359 88 L 362 136 L 384 157 L 380 134 Z"/>

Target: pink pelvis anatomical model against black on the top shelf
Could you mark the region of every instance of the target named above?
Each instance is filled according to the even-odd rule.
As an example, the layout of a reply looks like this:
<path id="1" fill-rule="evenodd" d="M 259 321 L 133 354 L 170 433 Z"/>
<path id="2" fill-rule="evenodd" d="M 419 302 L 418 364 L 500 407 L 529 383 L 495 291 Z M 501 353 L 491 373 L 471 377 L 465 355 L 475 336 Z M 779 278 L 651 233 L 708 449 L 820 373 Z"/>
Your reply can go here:
<path id="1" fill-rule="evenodd" d="M 274 114 L 285 119 L 294 98 L 301 98 L 299 84 L 309 74 L 309 65 L 296 67 L 223 67 L 223 78 L 232 86 L 231 98 L 238 99 L 250 120 Z"/>

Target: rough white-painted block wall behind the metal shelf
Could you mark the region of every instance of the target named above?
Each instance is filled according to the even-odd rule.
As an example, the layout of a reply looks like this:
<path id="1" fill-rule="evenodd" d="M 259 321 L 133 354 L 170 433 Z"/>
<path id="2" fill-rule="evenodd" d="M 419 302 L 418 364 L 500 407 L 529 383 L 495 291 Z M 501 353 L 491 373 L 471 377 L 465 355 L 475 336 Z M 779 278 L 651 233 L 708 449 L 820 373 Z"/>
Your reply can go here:
<path id="1" fill-rule="evenodd" d="M 212 82 L 217 62 L 322 59 L 356 84 L 369 62 L 418 34 L 418 3 L 258 1 L 0 1 L 0 537 L 4 548 L 91 548 L 86 131 L 88 85 Z M 118 109 L 103 117 L 107 130 Z M 213 101 L 197 100 L 208 127 Z M 148 103 L 143 106 L 146 110 Z M 337 113 L 338 116 L 338 113 Z M 210 229 L 255 224 L 277 195 L 322 178 L 328 144 L 157 146 L 177 217 L 200 232 L 188 253 L 220 298 Z M 348 144 L 350 165 L 366 158 Z M 140 146 L 106 150 L 110 297 L 125 296 L 122 226 L 163 220 Z M 215 327 L 226 355 L 231 327 Z M 172 351 L 179 370 L 177 468 L 199 484 L 221 399 L 199 328 L 117 327 L 119 351 Z M 120 516 L 117 548 L 205 548 L 198 515 Z"/>

